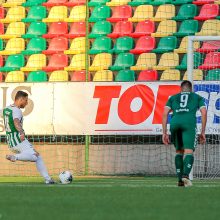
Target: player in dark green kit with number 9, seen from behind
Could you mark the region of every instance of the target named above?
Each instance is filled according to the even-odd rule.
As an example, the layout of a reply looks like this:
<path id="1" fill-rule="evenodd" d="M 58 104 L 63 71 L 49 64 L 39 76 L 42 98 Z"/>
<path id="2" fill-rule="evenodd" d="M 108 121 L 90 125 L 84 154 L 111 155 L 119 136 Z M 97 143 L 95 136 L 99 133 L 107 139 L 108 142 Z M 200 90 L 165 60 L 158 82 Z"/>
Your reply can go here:
<path id="1" fill-rule="evenodd" d="M 196 146 L 196 112 L 200 110 L 202 115 L 202 129 L 200 143 L 204 144 L 205 127 L 207 120 L 207 110 L 201 96 L 192 92 L 190 81 L 181 83 L 181 92 L 171 96 L 164 108 L 163 113 L 163 143 L 169 144 L 167 134 L 167 118 L 169 112 L 173 112 L 170 121 L 171 140 L 176 148 L 176 173 L 178 176 L 178 186 L 191 186 L 189 173 L 192 169 Z"/>

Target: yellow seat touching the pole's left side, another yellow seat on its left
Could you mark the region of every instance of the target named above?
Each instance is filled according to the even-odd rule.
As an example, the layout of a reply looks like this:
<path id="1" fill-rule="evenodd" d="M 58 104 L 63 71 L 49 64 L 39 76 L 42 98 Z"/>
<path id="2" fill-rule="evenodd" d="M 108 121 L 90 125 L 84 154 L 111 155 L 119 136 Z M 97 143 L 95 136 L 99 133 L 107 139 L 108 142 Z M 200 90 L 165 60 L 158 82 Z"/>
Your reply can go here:
<path id="1" fill-rule="evenodd" d="M 68 18 L 65 18 L 66 22 L 80 22 L 86 20 L 86 6 L 77 5 L 72 8 Z"/>

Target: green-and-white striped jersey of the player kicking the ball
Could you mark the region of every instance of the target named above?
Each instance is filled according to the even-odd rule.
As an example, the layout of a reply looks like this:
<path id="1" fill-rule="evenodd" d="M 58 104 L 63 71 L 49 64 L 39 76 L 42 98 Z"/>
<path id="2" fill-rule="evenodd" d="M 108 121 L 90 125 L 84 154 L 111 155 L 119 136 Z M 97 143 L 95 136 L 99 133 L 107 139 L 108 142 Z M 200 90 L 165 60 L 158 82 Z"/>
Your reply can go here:
<path id="1" fill-rule="evenodd" d="M 21 139 L 20 134 L 14 125 L 14 119 L 19 119 L 21 125 L 23 125 L 22 111 L 15 105 L 10 105 L 3 109 L 3 117 L 8 145 L 9 147 L 15 147 L 21 143 Z"/>

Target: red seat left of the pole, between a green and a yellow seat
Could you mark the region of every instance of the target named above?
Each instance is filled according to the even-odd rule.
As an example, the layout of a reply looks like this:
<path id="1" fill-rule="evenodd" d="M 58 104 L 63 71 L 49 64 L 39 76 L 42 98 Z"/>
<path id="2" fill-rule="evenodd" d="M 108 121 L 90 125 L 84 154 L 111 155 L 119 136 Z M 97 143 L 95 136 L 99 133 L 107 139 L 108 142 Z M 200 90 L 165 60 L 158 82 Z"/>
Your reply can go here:
<path id="1" fill-rule="evenodd" d="M 63 53 L 68 49 L 68 40 L 65 37 L 55 37 L 50 41 L 47 50 L 42 51 L 43 54 L 50 55 L 55 53 Z"/>

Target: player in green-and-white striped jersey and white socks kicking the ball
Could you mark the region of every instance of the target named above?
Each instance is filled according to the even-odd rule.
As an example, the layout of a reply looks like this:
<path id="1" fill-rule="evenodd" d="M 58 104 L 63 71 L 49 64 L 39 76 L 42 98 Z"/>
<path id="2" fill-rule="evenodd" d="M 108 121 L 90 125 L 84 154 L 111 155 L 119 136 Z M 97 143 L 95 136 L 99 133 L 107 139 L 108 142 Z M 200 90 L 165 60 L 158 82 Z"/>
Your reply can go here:
<path id="1" fill-rule="evenodd" d="M 33 146 L 25 138 L 23 126 L 23 115 L 21 108 L 28 104 L 28 94 L 18 91 L 15 96 L 15 102 L 3 109 L 3 117 L 7 142 L 10 150 L 15 155 L 6 155 L 6 159 L 11 162 L 30 161 L 35 162 L 41 176 L 44 177 L 46 184 L 54 184 L 53 179 L 49 176 L 47 168 L 40 154 L 33 149 Z"/>

